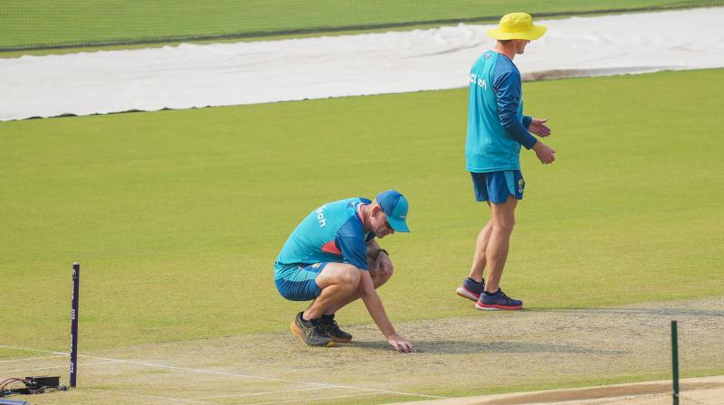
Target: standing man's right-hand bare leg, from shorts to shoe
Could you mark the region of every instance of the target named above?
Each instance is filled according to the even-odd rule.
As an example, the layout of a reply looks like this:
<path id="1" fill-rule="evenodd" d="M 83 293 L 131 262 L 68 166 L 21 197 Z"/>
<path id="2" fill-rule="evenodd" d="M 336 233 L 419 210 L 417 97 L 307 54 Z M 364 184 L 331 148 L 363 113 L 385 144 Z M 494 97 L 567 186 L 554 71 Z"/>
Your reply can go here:
<path id="1" fill-rule="evenodd" d="M 488 282 L 485 291 L 494 293 L 500 287 L 500 278 L 508 259 L 510 247 L 510 234 L 515 225 L 515 208 L 518 200 L 512 195 L 502 204 L 491 204 L 491 237 L 485 250 L 485 259 L 488 261 Z"/>

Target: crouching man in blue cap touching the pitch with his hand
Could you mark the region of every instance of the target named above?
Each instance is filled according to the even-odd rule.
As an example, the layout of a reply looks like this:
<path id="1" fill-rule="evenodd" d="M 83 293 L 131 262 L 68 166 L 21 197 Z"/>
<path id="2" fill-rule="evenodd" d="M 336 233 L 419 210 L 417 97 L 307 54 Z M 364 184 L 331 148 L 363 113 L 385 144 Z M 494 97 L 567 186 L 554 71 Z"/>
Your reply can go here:
<path id="1" fill-rule="evenodd" d="M 357 197 L 326 203 L 311 212 L 291 235 L 274 264 L 274 281 L 282 297 L 312 301 L 291 323 L 291 332 L 311 346 L 350 343 L 352 335 L 337 325 L 335 314 L 357 298 L 398 352 L 414 346 L 395 332 L 376 288 L 392 277 L 387 251 L 375 238 L 409 232 L 407 199 L 395 190 L 374 201 Z"/>

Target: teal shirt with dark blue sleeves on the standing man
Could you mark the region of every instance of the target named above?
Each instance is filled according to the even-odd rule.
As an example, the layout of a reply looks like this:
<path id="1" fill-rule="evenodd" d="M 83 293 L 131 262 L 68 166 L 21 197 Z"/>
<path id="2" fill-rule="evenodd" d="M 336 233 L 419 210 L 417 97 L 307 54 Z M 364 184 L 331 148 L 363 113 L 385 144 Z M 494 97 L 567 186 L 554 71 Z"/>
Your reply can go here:
<path id="1" fill-rule="evenodd" d="M 465 165 L 469 172 L 520 170 L 520 145 L 536 138 L 526 129 L 520 72 L 502 53 L 484 52 L 472 65 Z"/>

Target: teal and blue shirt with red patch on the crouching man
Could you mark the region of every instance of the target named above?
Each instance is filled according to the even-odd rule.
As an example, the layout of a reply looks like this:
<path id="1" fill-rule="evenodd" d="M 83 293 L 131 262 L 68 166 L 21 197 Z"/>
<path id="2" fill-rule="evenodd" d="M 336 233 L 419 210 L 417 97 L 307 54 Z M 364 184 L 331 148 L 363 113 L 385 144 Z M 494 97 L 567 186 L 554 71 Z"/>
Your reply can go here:
<path id="1" fill-rule="evenodd" d="M 281 248 L 274 278 L 285 277 L 298 265 L 327 261 L 367 270 L 367 242 L 375 238 L 375 233 L 365 232 L 359 209 L 369 203 L 367 198 L 348 198 L 310 212 Z"/>

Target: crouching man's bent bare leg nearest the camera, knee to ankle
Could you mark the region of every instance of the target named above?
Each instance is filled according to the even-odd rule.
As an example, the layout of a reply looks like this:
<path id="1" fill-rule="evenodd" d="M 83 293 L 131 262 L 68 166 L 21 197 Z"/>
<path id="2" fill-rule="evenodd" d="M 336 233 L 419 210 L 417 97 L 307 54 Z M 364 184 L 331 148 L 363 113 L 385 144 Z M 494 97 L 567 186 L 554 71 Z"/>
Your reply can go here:
<path id="1" fill-rule="evenodd" d="M 304 311 L 304 319 L 316 319 L 330 308 L 338 307 L 357 291 L 359 286 L 359 268 L 351 264 L 329 263 L 315 280 L 322 292 L 310 307 Z"/>

